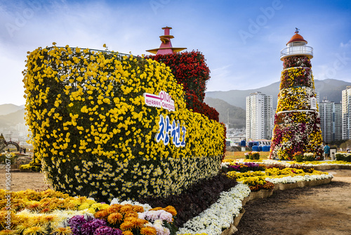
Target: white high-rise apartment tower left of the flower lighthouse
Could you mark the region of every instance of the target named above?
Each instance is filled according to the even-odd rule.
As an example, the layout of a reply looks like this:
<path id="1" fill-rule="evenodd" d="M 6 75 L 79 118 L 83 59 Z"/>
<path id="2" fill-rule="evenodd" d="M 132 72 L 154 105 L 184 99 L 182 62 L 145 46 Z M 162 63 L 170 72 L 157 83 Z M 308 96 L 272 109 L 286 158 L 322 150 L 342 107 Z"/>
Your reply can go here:
<path id="1" fill-rule="evenodd" d="M 272 96 L 260 91 L 246 96 L 246 139 L 272 138 Z"/>

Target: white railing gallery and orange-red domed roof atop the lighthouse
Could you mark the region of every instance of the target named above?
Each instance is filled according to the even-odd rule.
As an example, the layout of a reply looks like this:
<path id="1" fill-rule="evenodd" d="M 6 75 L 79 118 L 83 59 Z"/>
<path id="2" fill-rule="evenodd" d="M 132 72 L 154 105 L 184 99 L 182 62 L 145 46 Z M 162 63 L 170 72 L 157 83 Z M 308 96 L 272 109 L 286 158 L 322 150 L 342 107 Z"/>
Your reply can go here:
<path id="1" fill-rule="evenodd" d="M 312 46 L 306 46 L 307 41 L 298 34 L 298 28 L 296 28 L 295 34 L 288 43 L 286 43 L 285 49 L 280 51 L 280 60 L 284 61 L 284 58 L 290 56 L 307 56 L 308 58 L 313 58 L 313 48 Z"/>

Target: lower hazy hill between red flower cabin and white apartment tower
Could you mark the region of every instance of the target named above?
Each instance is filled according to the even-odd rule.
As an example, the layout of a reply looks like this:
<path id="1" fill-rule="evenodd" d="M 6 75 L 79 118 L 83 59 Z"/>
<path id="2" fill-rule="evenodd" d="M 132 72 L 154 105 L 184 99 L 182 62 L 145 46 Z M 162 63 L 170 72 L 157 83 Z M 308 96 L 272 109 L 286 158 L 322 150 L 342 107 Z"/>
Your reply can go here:
<path id="1" fill-rule="evenodd" d="M 204 100 L 208 106 L 216 108 L 220 114 L 220 122 L 228 123 L 230 128 L 241 129 L 246 125 L 246 112 L 243 108 L 232 106 L 231 104 L 221 100 L 206 97 Z"/>

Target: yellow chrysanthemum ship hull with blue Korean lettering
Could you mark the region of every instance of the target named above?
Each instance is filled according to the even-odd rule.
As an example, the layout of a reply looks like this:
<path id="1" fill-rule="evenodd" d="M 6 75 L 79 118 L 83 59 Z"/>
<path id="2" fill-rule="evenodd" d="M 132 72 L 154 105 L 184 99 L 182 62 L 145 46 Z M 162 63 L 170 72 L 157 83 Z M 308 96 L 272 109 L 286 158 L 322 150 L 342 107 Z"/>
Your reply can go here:
<path id="1" fill-rule="evenodd" d="M 224 127 L 187 108 L 164 63 L 54 44 L 26 66 L 27 125 L 53 189 L 163 197 L 218 174 Z"/>

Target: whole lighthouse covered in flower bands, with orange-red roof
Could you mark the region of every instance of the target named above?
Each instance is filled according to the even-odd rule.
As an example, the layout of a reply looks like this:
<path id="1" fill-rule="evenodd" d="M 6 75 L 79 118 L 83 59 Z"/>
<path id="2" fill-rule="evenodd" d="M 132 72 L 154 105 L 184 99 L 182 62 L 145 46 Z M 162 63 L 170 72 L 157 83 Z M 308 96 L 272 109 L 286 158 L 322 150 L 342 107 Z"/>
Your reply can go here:
<path id="1" fill-rule="evenodd" d="M 293 160 L 295 153 L 322 156 L 322 134 L 310 59 L 313 49 L 298 29 L 281 51 L 283 61 L 270 158 Z"/>

